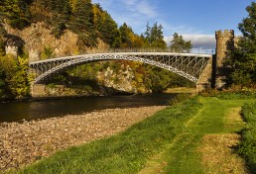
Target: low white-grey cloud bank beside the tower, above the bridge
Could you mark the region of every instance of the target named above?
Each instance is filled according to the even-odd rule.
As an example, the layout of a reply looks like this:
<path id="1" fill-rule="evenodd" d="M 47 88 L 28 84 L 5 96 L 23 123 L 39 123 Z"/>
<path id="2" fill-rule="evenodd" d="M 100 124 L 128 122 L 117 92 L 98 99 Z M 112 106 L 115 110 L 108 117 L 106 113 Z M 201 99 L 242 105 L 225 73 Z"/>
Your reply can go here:
<path id="1" fill-rule="evenodd" d="M 182 34 L 185 41 L 191 41 L 193 48 L 202 48 L 202 49 L 214 49 L 216 45 L 214 35 L 189 35 Z M 165 37 L 165 42 L 170 44 L 173 40 L 173 36 Z"/>

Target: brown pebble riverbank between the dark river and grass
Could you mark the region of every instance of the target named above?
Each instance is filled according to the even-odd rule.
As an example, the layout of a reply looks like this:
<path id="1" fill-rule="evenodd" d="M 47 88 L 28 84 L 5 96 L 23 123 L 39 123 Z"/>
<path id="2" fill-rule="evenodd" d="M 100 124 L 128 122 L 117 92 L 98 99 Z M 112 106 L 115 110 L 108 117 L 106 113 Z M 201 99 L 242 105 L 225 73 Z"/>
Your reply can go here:
<path id="1" fill-rule="evenodd" d="M 0 124 L 0 173 L 22 168 L 58 150 L 109 136 L 165 107 L 109 109 L 41 121 Z"/>

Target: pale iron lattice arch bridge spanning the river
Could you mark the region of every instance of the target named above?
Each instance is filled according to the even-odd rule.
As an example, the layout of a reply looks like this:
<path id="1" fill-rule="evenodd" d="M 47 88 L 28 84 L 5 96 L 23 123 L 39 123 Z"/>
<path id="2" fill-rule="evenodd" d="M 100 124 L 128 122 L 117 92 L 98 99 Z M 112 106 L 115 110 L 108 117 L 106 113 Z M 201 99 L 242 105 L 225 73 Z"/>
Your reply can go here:
<path id="1" fill-rule="evenodd" d="M 36 73 L 34 84 L 40 84 L 71 66 L 92 61 L 130 60 L 170 70 L 196 83 L 211 58 L 210 54 L 172 52 L 92 53 L 35 61 L 30 63 L 30 68 Z"/>

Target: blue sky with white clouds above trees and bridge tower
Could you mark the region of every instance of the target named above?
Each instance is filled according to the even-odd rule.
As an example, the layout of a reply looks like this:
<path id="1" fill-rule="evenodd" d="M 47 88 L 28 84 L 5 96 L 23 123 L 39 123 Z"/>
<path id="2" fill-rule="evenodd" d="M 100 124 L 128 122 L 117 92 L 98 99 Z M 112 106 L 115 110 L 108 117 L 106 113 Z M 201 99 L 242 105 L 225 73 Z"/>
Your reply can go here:
<path id="1" fill-rule="evenodd" d="M 215 31 L 234 30 L 248 16 L 246 7 L 252 0 L 92 0 L 99 3 L 118 26 L 124 22 L 140 35 L 147 22 L 164 27 L 170 44 L 174 33 L 192 41 L 194 48 L 215 48 Z"/>

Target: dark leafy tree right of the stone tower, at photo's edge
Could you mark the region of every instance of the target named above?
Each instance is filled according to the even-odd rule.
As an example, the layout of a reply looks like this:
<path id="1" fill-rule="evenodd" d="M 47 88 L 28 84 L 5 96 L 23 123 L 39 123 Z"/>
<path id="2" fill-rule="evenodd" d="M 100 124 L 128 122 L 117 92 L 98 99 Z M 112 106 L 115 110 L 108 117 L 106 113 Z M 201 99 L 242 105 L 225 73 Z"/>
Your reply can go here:
<path id="1" fill-rule="evenodd" d="M 227 84 L 239 85 L 241 88 L 256 84 L 256 3 L 252 2 L 246 10 L 248 17 L 238 24 L 243 37 L 229 58 L 224 61 L 230 71 Z"/>

